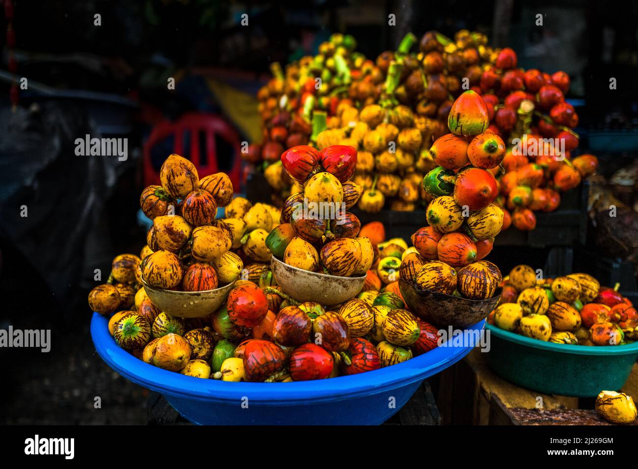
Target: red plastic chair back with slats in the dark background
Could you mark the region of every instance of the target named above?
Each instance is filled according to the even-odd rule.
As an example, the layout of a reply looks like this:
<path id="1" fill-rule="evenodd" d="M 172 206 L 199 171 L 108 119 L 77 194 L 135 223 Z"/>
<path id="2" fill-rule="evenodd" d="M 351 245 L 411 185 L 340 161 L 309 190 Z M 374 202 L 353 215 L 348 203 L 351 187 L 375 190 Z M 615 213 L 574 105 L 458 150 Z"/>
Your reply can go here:
<path id="1" fill-rule="evenodd" d="M 184 154 L 184 133 L 186 131 L 190 134 L 190 154 Z M 200 149 L 200 133 L 205 135 L 205 149 Z M 189 112 L 182 115 L 175 122 L 166 121 L 153 128 L 151 135 L 149 135 L 144 144 L 144 184 L 149 186 L 159 183 L 159 168 L 156 169 L 152 164 L 151 150 L 155 145 L 163 142 L 171 135 L 175 139 L 173 153 L 191 160 L 197 168 L 200 177 L 219 172 L 215 144 L 216 134 L 225 140 L 230 147 L 234 148 L 235 154 L 232 168 L 226 174 L 230 177 L 235 191 L 238 191 L 241 179 L 241 144 L 239 136 L 234 128 L 218 115 L 201 112 Z M 204 151 L 207 156 L 205 164 L 202 163 L 202 153 Z"/>

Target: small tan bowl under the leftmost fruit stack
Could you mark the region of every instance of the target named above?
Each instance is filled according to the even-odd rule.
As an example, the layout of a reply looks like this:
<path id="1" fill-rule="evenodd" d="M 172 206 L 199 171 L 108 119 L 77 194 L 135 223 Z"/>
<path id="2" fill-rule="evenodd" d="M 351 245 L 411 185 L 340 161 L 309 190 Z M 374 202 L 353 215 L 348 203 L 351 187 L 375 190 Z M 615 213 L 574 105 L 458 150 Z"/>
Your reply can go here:
<path id="1" fill-rule="evenodd" d="M 144 279 L 142 285 L 149 298 L 159 309 L 170 316 L 179 318 L 202 318 L 210 315 L 219 308 L 228 297 L 235 281 L 214 290 L 203 292 L 175 292 L 175 290 L 162 290 L 150 287 Z"/>

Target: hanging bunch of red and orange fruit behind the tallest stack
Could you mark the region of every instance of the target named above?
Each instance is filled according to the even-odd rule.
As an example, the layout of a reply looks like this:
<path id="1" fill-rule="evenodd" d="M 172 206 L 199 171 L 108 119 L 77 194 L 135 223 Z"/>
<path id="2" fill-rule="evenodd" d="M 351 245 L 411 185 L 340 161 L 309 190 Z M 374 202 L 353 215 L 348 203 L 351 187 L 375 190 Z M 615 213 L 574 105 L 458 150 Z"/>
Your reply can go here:
<path id="1" fill-rule="evenodd" d="M 574 189 L 595 172 L 598 160 L 591 154 L 572 159 L 579 137 L 574 107 L 565 101 L 570 79 L 564 71 L 553 75 L 536 69 L 517 68 L 516 52 L 504 48 L 471 90 L 487 105 L 488 129 L 507 142 L 498 177 L 496 199 L 505 212 L 505 227 L 533 230 L 535 211 L 551 212 L 560 204 L 560 193 Z"/>

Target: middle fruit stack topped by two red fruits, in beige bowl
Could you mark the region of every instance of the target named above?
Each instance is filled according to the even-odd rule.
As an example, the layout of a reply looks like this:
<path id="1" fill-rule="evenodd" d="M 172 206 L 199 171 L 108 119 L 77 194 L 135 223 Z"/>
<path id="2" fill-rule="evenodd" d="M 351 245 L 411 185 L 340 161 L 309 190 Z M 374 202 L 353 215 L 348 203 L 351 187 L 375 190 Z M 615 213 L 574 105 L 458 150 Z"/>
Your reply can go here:
<path id="1" fill-rule="evenodd" d="M 281 223 L 265 240 L 272 255 L 306 271 L 340 277 L 366 274 L 375 257 L 373 245 L 359 236 L 359 218 L 348 212 L 363 191 L 349 180 L 357 151 L 346 145 L 322 151 L 298 145 L 281 154 L 281 164 L 295 181 L 295 193 L 281 209 Z"/>

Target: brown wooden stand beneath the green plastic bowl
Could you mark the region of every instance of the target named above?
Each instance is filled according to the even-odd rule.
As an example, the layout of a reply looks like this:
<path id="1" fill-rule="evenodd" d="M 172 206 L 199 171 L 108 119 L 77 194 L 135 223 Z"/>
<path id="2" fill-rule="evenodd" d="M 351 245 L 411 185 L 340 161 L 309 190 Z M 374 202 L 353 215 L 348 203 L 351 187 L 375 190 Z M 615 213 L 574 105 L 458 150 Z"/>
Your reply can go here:
<path id="1" fill-rule="evenodd" d="M 638 398 L 638 365 L 622 391 Z M 435 395 L 443 425 L 607 424 L 593 410 L 594 398 L 541 394 L 507 382 L 478 348 L 441 372 Z"/>

